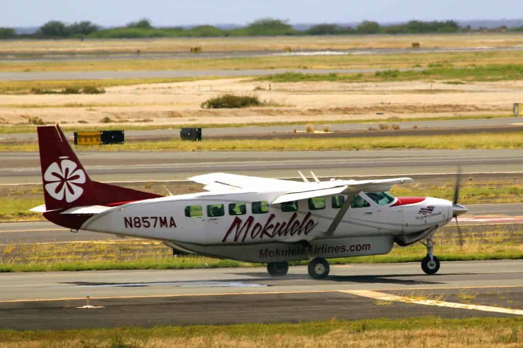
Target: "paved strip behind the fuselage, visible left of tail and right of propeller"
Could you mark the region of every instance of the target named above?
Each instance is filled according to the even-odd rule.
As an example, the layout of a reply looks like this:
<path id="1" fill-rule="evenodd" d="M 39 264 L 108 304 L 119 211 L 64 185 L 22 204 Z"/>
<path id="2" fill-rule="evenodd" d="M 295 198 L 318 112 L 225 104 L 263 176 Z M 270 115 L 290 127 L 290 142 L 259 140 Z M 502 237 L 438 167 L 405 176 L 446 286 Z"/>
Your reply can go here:
<path id="1" fill-rule="evenodd" d="M 467 205 L 469 212 L 460 217 L 462 227 L 485 224 L 523 223 L 523 203 Z M 454 226 L 452 225 L 453 229 Z M 466 235 L 465 235 L 466 237 Z M 112 234 L 79 231 L 71 233 L 49 221 L 0 223 L 0 245 L 13 243 L 68 243 L 120 240 Z"/>

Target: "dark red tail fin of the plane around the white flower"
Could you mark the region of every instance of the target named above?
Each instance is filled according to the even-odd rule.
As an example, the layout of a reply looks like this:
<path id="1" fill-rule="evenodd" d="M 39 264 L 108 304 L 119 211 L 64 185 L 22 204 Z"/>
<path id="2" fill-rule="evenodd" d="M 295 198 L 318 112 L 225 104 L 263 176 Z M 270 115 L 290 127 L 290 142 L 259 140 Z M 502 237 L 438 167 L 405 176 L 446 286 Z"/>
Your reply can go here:
<path id="1" fill-rule="evenodd" d="M 38 146 L 47 210 L 161 197 L 91 181 L 58 125 L 38 127 Z"/>

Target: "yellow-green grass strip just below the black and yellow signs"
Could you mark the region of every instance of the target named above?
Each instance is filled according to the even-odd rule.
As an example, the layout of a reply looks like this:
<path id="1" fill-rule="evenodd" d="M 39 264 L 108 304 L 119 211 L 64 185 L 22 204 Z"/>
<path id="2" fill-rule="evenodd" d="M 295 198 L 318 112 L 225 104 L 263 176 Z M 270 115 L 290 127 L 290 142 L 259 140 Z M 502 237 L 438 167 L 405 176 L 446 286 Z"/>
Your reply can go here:
<path id="1" fill-rule="evenodd" d="M 123 145 L 76 147 L 86 151 L 328 151 L 376 149 L 521 149 L 521 133 L 477 133 L 369 138 L 230 139 L 133 141 Z M 2 144 L 0 151 L 37 151 L 36 143 Z"/>

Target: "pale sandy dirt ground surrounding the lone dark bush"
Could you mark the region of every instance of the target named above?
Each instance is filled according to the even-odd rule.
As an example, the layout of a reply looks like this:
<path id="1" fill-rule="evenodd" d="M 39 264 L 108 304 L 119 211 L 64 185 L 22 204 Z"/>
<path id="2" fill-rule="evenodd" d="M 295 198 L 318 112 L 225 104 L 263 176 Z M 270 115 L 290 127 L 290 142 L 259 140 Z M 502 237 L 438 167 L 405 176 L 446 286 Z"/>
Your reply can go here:
<path id="1" fill-rule="evenodd" d="M 291 82 L 235 78 L 107 88 L 99 95 L 0 95 L 0 124 L 43 122 L 99 126 L 328 122 L 338 120 L 510 114 L 523 81 Z M 223 93 L 257 95 L 269 106 L 203 110 Z"/>

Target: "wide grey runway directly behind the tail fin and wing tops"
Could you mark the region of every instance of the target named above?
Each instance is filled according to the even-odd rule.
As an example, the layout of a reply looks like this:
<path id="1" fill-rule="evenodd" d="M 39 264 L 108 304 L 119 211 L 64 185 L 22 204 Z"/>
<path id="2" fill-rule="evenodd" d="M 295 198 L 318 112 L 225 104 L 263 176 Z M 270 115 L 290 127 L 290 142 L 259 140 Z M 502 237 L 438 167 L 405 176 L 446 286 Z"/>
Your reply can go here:
<path id="1" fill-rule="evenodd" d="M 264 177 L 321 177 L 523 172 L 523 150 L 361 150 L 290 152 L 78 151 L 90 177 L 101 182 L 185 180 L 210 172 Z M 40 184 L 36 152 L 0 153 L 0 185 Z"/>

